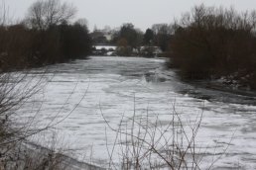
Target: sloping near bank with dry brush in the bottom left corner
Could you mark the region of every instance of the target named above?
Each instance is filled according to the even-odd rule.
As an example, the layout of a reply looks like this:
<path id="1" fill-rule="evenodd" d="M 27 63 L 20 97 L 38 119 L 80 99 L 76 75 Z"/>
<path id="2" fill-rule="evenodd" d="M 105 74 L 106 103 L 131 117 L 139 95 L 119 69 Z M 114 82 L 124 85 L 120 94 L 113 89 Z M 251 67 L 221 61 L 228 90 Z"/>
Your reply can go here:
<path id="1" fill-rule="evenodd" d="M 12 169 L 55 169 L 55 170 L 105 170 L 104 168 L 81 162 L 70 156 L 30 141 L 12 145 L 6 157 L 1 157 L 0 168 Z"/>

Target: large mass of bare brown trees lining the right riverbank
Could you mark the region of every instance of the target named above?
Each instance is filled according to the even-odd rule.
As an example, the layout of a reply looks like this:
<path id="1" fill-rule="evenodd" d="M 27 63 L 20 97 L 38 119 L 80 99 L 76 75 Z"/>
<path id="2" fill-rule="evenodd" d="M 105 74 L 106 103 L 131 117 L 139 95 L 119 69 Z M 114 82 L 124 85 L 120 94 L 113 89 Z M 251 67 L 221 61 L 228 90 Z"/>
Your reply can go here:
<path id="1" fill-rule="evenodd" d="M 176 23 L 171 66 L 189 79 L 229 77 L 256 89 L 256 12 L 196 6 Z"/>

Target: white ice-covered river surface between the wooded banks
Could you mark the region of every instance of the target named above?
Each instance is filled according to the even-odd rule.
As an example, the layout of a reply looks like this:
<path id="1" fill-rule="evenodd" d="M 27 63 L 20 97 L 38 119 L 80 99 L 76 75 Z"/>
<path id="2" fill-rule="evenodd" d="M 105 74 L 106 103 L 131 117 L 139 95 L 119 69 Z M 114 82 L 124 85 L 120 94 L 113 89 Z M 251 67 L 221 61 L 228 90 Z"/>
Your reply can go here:
<path id="1" fill-rule="evenodd" d="M 219 155 L 213 169 L 256 169 L 254 97 L 184 83 L 163 58 L 91 56 L 35 74 L 41 70 L 47 84 L 16 117 L 51 125 L 31 138 L 35 142 L 68 148 L 72 157 L 104 166 L 116 136 L 105 121 L 117 127 L 123 115 L 124 122 L 146 115 L 168 125 L 175 106 L 185 126 L 202 113 L 195 139 L 205 153 L 202 169 Z"/>

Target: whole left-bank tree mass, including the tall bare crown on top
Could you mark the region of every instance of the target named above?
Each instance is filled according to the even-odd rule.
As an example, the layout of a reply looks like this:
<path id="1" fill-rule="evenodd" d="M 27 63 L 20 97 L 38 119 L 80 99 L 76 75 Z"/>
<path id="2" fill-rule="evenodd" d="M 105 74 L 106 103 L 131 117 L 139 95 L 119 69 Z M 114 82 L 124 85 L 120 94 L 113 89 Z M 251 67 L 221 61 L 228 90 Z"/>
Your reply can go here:
<path id="1" fill-rule="evenodd" d="M 26 19 L 0 25 L 0 69 L 16 69 L 85 57 L 91 49 L 82 20 L 70 24 L 75 8 L 60 0 L 38 0 Z M 3 21 L 4 16 L 1 16 Z"/>

